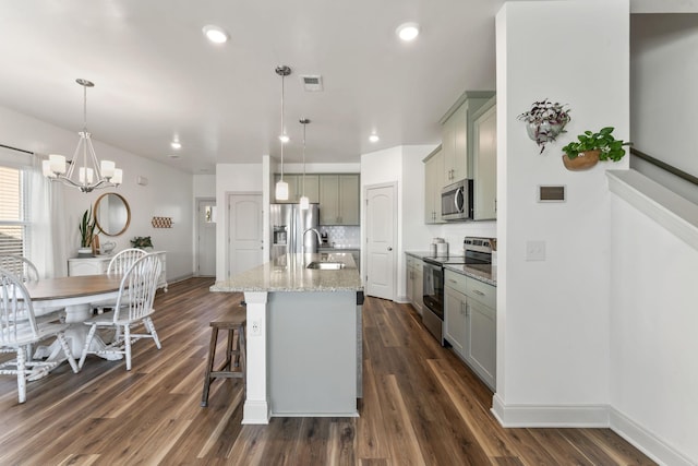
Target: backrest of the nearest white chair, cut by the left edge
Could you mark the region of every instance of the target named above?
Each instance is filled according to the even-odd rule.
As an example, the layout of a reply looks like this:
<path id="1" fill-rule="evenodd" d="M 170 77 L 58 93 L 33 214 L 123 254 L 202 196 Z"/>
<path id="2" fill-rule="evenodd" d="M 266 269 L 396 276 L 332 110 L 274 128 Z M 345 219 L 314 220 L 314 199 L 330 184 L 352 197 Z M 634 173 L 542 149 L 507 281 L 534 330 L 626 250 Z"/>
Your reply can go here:
<path id="1" fill-rule="evenodd" d="M 16 275 L 0 268 L 0 346 L 16 345 L 19 339 L 37 335 L 29 292 Z"/>

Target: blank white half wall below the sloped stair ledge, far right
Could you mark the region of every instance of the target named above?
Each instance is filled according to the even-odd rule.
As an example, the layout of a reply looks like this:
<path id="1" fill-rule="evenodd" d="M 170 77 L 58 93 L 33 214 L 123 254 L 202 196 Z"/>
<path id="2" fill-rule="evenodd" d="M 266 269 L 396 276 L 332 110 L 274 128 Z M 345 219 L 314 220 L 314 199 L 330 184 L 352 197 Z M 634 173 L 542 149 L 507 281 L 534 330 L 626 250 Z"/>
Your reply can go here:
<path id="1" fill-rule="evenodd" d="M 612 422 L 696 464 L 698 251 L 616 196 L 611 218 Z"/>

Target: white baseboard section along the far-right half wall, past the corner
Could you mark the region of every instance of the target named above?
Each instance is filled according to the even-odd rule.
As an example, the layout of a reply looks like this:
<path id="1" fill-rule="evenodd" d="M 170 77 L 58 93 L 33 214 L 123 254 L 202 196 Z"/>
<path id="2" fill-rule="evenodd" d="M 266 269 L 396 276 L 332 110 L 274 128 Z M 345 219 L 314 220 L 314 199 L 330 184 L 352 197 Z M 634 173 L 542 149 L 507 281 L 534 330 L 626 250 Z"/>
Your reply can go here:
<path id="1" fill-rule="evenodd" d="M 609 411 L 611 429 L 657 463 L 676 466 L 696 466 L 698 464 L 698 458 L 691 461 L 686 457 L 617 409 L 611 407 Z"/>

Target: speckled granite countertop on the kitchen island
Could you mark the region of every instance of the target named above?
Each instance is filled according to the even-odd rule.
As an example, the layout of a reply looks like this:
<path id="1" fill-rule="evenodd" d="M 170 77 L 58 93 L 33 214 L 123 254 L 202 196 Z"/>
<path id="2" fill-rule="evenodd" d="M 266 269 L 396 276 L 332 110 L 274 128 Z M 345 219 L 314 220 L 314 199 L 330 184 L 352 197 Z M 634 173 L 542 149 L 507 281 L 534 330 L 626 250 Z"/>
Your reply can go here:
<path id="1" fill-rule="evenodd" d="M 303 261 L 304 259 L 304 261 Z M 345 268 L 327 271 L 305 268 L 313 261 L 344 262 Z M 212 291 L 360 291 L 363 290 L 357 265 L 348 252 L 287 254 L 216 282 Z"/>

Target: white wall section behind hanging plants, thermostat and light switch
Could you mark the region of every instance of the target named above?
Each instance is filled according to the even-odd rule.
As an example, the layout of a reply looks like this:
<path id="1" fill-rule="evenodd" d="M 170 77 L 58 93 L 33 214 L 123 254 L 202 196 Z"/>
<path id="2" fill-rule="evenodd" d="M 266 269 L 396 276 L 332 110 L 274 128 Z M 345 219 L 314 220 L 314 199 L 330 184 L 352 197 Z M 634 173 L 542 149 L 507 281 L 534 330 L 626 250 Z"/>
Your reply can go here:
<path id="1" fill-rule="evenodd" d="M 628 139 L 628 1 L 509 2 L 496 27 L 495 413 L 505 425 L 603 425 L 611 288 L 604 170 L 627 167 L 627 159 L 570 172 L 561 147 L 604 126 Z M 573 120 L 539 155 L 516 117 L 546 97 L 567 103 Z M 567 187 L 567 202 L 535 202 L 538 184 L 557 183 Z M 545 242 L 545 261 L 526 261 L 530 240 Z"/>

